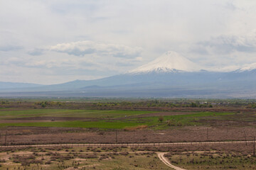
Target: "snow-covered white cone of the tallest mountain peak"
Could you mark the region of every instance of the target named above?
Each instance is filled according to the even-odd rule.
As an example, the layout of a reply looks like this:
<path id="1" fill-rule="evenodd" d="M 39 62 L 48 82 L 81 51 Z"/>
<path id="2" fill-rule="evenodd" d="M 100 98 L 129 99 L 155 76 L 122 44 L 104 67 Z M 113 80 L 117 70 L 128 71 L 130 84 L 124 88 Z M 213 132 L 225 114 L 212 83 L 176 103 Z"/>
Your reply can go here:
<path id="1" fill-rule="evenodd" d="M 149 73 L 149 72 L 198 72 L 201 67 L 179 55 L 177 52 L 169 51 L 156 58 L 148 64 L 144 64 L 129 73 Z"/>

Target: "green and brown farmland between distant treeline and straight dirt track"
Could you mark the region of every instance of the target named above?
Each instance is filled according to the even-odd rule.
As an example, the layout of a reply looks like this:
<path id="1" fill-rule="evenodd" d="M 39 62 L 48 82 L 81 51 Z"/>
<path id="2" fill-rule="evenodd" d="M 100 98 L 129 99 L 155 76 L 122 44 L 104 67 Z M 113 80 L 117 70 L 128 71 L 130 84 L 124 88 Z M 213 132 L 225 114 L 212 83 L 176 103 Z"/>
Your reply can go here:
<path id="1" fill-rule="evenodd" d="M 0 109 L 1 145 L 230 141 L 256 135 L 252 108 L 144 111 L 30 105 Z"/>

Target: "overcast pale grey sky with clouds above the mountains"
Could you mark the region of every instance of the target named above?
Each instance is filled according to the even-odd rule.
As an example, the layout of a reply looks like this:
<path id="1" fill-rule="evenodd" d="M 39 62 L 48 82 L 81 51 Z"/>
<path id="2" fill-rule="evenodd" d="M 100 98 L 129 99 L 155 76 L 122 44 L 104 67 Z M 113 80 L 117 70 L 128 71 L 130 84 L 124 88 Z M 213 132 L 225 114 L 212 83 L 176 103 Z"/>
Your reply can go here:
<path id="1" fill-rule="evenodd" d="M 253 0 L 0 0 L 0 81 L 128 72 L 175 51 L 206 67 L 256 62 Z"/>

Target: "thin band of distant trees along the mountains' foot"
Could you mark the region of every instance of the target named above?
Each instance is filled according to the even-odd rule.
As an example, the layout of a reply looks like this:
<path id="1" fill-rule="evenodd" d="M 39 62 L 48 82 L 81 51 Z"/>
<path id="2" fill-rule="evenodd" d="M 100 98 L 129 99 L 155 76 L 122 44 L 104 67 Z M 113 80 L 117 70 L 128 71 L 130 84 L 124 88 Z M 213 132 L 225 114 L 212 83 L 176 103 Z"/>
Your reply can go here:
<path id="1" fill-rule="evenodd" d="M 70 98 L 69 98 L 70 99 Z M 7 106 L 40 106 L 69 107 L 69 108 L 215 108 L 215 107 L 243 107 L 256 108 L 255 99 L 191 99 L 191 98 L 78 98 L 75 101 L 64 101 L 63 98 L 48 98 L 48 100 L 24 98 L 0 98 L 0 108 Z"/>

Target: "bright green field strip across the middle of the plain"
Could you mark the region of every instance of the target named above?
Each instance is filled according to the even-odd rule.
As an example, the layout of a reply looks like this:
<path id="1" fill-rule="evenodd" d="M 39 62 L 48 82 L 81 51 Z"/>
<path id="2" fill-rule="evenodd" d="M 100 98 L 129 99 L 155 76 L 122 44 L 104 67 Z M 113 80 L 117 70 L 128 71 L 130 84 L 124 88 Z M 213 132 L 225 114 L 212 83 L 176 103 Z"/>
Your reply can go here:
<path id="1" fill-rule="evenodd" d="M 7 126 L 36 126 L 36 127 L 63 127 L 63 128 L 100 128 L 100 129 L 123 129 L 146 125 L 151 128 L 164 129 L 168 126 L 202 125 L 198 120 L 208 118 L 216 119 L 235 113 L 213 112 L 188 112 L 182 115 L 144 116 L 144 114 L 158 113 L 156 111 L 105 111 L 105 110 L 70 110 L 70 109 L 24 109 L 24 110 L 0 110 L 0 127 Z M 67 118 L 60 121 L 40 121 L 40 118 Z M 32 122 L 27 122 L 36 118 Z M 78 118 L 78 120 L 68 120 Z M 79 118 L 81 120 L 79 120 Z M 84 119 L 84 120 L 83 120 Z M 89 119 L 89 120 L 88 120 Z M 23 120 L 18 123 L 4 123 L 4 120 Z"/>

